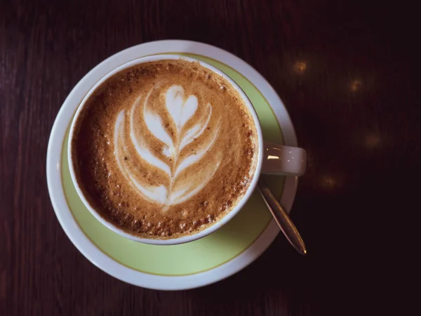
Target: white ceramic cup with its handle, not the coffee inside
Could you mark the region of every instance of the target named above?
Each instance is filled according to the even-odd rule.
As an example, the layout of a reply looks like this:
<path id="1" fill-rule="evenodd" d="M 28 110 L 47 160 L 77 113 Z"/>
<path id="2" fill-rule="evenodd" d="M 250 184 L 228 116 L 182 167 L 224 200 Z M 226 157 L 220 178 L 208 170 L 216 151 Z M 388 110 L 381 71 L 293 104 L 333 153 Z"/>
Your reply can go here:
<path id="1" fill-rule="evenodd" d="M 250 111 L 250 114 L 253 117 L 256 130 L 258 131 L 258 164 L 255 168 L 255 173 L 253 175 L 253 179 L 250 182 L 250 185 L 246 191 L 246 193 L 243 195 L 243 197 L 237 202 L 237 204 L 234 206 L 234 208 L 227 213 L 226 216 L 218 220 L 218 222 L 214 223 L 213 225 L 210 225 L 208 228 L 201 230 L 200 232 L 196 232 L 192 235 L 187 235 L 185 237 L 179 237 L 179 238 L 172 238 L 172 239 L 148 239 L 148 238 L 141 238 L 135 235 L 128 234 L 127 232 L 124 232 L 117 226 L 113 225 L 112 223 L 108 222 L 100 214 L 98 211 L 96 211 L 91 204 L 88 203 L 88 200 L 83 195 L 83 192 L 81 190 L 81 187 L 79 187 L 79 184 L 76 180 L 76 175 L 74 173 L 74 166 L 73 166 L 73 160 L 72 160 L 72 138 L 74 135 L 74 126 L 75 122 L 77 120 L 77 117 L 79 117 L 79 114 L 81 113 L 81 110 L 83 106 L 86 103 L 86 100 L 93 94 L 93 92 L 100 86 L 104 81 L 109 79 L 109 77 L 112 77 L 114 74 L 121 72 L 122 70 L 125 70 L 128 67 L 133 67 L 134 65 L 139 65 L 144 62 L 152 62 L 157 60 L 187 60 L 191 62 L 199 62 L 200 65 L 203 67 L 208 68 L 209 70 L 215 72 L 216 74 L 219 74 L 220 76 L 224 77 L 229 84 L 232 85 L 232 87 L 239 93 L 241 98 L 243 98 L 243 102 L 248 107 L 248 110 Z M 251 104 L 250 100 L 247 98 L 246 93 L 244 93 L 241 88 L 225 74 L 224 72 L 221 72 L 217 68 L 209 65 L 206 62 L 202 62 L 200 60 L 196 60 L 194 58 L 187 58 L 185 56 L 180 55 L 152 55 L 147 56 L 143 58 L 138 58 L 135 60 L 132 60 L 130 62 L 126 62 L 126 64 L 121 65 L 120 67 L 117 67 L 116 69 L 112 70 L 112 72 L 109 72 L 105 75 L 105 77 L 102 77 L 100 81 L 98 81 L 93 88 L 86 94 L 85 98 L 83 98 L 81 104 L 79 105 L 78 109 L 76 110 L 76 114 L 74 115 L 72 126 L 70 127 L 70 133 L 69 133 L 69 143 L 68 143 L 68 160 L 69 160 L 69 169 L 70 169 L 70 175 L 72 176 L 72 181 L 74 183 L 74 186 L 76 187 L 76 192 L 78 193 L 79 197 L 81 198 L 83 204 L 86 206 L 86 208 L 97 218 L 103 225 L 107 226 L 110 230 L 113 230 L 117 234 L 126 237 L 128 239 L 135 240 L 136 242 L 143 242 L 145 244 L 159 244 L 159 245 L 170 245 L 170 244 L 183 244 L 185 242 L 192 242 L 193 240 L 200 239 L 202 237 L 205 237 L 206 235 L 209 235 L 212 232 L 215 232 L 215 230 L 218 230 L 218 228 L 222 227 L 227 223 L 229 220 L 231 220 L 236 213 L 240 211 L 240 209 L 243 207 L 244 204 L 248 201 L 250 195 L 255 190 L 256 185 L 258 184 L 258 178 L 261 173 L 271 173 L 271 174 L 286 174 L 289 176 L 301 176 L 305 172 L 305 167 L 307 164 L 307 154 L 305 150 L 299 147 L 288 147 L 283 145 L 276 145 L 274 143 L 267 143 L 263 140 L 262 137 L 262 127 L 260 126 L 260 121 L 258 119 L 258 114 L 256 114 L 255 109 L 253 105 Z"/>

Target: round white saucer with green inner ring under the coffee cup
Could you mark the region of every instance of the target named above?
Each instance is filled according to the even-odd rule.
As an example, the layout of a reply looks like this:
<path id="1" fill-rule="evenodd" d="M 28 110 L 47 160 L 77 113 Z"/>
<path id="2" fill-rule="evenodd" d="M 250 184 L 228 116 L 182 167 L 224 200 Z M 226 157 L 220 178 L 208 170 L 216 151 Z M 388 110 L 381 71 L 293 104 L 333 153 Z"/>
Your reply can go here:
<path id="1" fill-rule="evenodd" d="M 48 191 L 55 214 L 79 251 L 109 275 L 149 289 L 202 287 L 229 277 L 255 261 L 279 233 L 257 190 L 229 223 L 187 244 L 156 246 L 117 235 L 83 206 L 69 173 L 67 141 L 76 108 L 105 74 L 146 55 L 177 54 L 203 60 L 231 77 L 258 112 L 265 140 L 296 146 L 286 108 L 268 82 L 246 62 L 220 48 L 193 41 L 154 41 L 112 55 L 88 72 L 69 93 L 51 131 L 47 152 Z M 289 212 L 296 177 L 265 176 Z"/>

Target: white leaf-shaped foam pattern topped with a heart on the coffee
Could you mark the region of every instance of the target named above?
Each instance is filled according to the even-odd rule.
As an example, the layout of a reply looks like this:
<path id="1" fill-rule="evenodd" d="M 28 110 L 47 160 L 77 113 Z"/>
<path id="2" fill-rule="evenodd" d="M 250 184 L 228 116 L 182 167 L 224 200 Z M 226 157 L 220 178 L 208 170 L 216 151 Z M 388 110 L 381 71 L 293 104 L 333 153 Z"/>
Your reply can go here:
<path id="1" fill-rule="evenodd" d="M 138 97 L 128 112 L 125 110 L 119 112 L 114 127 L 114 156 L 121 173 L 143 197 L 152 202 L 163 204 L 163 206 L 170 206 L 185 202 L 196 195 L 206 186 L 220 166 L 222 154 L 218 153 L 215 156 L 216 159 L 208 159 L 206 165 L 199 170 L 199 175 L 194 173 L 185 178 L 179 178 L 180 173 L 206 156 L 206 153 L 213 147 L 216 138 L 218 138 L 220 126 L 218 122 L 210 137 L 203 142 L 197 142 L 198 145 L 194 146 L 194 153 L 188 152 L 185 157 L 181 157 L 180 154 L 185 150 L 185 147 L 200 138 L 203 131 L 208 128 L 212 116 L 212 105 L 207 103 L 205 114 L 194 121 L 194 126 L 185 129 L 186 123 L 192 120 L 196 113 L 198 99 L 196 96 L 185 98 L 182 86 L 173 85 L 168 88 L 165 96 L 165 107 L 176 131 L 174 136 L 170 136 L 163 126 L 163 120 L 159 114 L 154 112 L 148 102 L 152 92 L 160 93 L 159 86 L 149 91 L 145 98 Z M 169 158 L 169 162 L 168 159 L 166 159 L 166 162 L 156 157 L 142 132 L 135 132 L 135 115 L 139 112 L 142 113 L 142 119 L 149 133 L 161 141 L 162 154 Z M 129 133 L 125 133 L 125 124 L 130 126 L 128 128 Z M 131 157 L 128 146 L 134 147 L 135 152 L 145 163 L 150 165 L 149 167 L 154 167 L 166 173 L 169 178 L 168 187 L 162 184 L 158 186 L 148 185 L 148 183 L 142 181 L 142 178 L 138 177 L 135 166 L 131 163 L 132 159 L 128 158 Z M 166 207 L 163 208 L 163 211 L 165 210 Z"/>

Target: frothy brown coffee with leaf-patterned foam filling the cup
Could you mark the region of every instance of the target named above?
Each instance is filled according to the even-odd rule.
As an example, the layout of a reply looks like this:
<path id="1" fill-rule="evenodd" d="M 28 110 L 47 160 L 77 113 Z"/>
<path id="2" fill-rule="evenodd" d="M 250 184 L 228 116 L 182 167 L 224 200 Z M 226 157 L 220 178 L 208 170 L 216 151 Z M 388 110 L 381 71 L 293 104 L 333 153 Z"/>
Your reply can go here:
<path id="1" fill-rule="evenodd" d="M 131 235 L 192 235 L 225 216 L 258 163 L 253 117 L 199 62 L 159 60 L 114 74 L 83 105 L 72 164 L 83 195 Z"/>

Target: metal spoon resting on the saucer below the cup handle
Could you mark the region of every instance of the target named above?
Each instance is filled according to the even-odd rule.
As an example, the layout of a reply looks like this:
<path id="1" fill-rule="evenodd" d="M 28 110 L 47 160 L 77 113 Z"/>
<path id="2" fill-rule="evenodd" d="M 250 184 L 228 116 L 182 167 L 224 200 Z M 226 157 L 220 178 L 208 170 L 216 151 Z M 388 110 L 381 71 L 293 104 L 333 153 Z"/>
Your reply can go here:
<path id="1" fill-rule="evenodd" d="M 278 202 L 262 178 L 259 179 L 258 188 L 262 194 L 263 199 L 265 200 L 267 207 L 274 216 L 276 223 L 278 224 L 279 228 L 281 228 L 283 235 L 285 235 L 286 239 L 288 239 L 288 242 L 290 242 L 290 244 L 293 245 L 293 247 L 300 254 L 307 254 L 307 250 L 305 249 L 305 244 L 302 241 L 300 233 L 298 232 L 292 220 L 290 220 L 288 213 L 286 213 L 286 211 L 283 209 L 281 204 Z"/>

